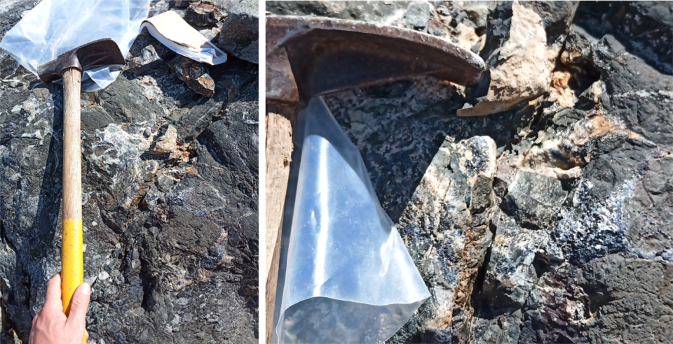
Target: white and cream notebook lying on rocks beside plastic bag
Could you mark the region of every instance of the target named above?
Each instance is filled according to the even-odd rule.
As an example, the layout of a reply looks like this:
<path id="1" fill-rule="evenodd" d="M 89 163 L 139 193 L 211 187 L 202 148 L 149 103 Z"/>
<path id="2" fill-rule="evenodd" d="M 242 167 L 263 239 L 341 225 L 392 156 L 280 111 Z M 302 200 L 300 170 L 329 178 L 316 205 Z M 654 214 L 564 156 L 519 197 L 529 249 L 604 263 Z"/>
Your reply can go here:
<path id="1" fill-rule="evenodd" d="M 144 29 L 170 50 L 194 61 L 207 64 L 222 64 L 226 61 L 225 52 L 210 43 L 172 10 L 142 22 L 140 32 Z"/>

